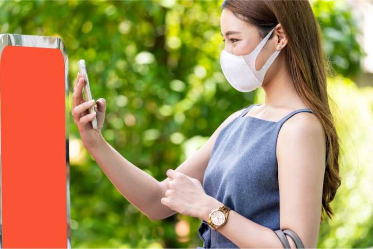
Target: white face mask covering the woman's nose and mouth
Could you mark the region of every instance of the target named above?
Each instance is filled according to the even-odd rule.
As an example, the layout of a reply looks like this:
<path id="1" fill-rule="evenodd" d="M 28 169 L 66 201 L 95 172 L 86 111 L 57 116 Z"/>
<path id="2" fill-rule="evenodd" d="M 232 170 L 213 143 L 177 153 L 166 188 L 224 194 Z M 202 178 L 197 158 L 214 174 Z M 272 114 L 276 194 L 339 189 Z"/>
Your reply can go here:
<path id="1" fill-rule="evenodd" d="M 228 82 L 238 91 L 248 92 L 260 87 L 263 83 L 264 75 L 271 66 L 280 50 L 272 53 L 264 66 L 257 71 L 255 61 L 267 40 L 271 36 L 274 28 L 259 43 L 253 52 L 246 55 L 234 55 L 225 50 L 220 54 L 220 66 Z"/>

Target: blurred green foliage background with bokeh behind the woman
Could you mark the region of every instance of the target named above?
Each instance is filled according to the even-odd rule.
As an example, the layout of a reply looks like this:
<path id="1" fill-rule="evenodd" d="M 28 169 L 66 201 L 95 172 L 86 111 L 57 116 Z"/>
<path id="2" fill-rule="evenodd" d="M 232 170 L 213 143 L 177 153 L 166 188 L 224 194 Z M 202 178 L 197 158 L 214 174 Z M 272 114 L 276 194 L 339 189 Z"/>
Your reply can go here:
<path id="1" fill-rule="evenodd" d="M 94 98 L 107 100 L 103 136 L 161 181 L 231 113 L 264 100 L 262 89 L 239 92 L 221 72 L 220 3 L 0 1 L 0 33 L 61 37 L 70 94 L 84 58 Z M 335 216 L 321 225 L 318 247 L 373 247 L 372 2 L 311 4 L 338 73 L 328 89 L 342 146 Z M 178 213 L 149 220 L 85 151 L 71 116 L 69 129 L 73 248 L 203 245 L 198 218 Z"/>

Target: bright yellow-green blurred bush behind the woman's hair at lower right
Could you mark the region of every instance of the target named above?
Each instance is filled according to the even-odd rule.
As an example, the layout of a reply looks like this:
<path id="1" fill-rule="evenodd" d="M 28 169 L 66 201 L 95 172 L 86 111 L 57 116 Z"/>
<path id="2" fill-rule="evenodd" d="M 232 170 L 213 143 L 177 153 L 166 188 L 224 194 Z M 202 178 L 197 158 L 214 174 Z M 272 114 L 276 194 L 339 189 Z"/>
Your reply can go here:
<path id="1" fill-rule="evenodd" d="M 322 224 L 319 247 L 367 248 L 373 245 L 373 88 L 359 89 L 349 79 L 328 81 L 328 92 L 341 140 L 335 216 Z"/>

